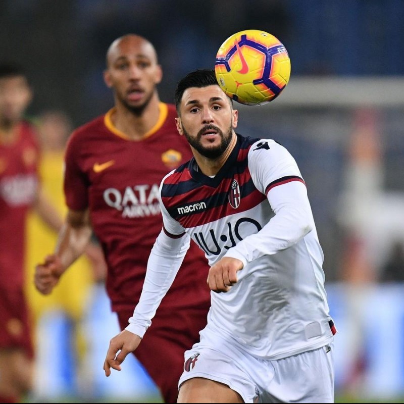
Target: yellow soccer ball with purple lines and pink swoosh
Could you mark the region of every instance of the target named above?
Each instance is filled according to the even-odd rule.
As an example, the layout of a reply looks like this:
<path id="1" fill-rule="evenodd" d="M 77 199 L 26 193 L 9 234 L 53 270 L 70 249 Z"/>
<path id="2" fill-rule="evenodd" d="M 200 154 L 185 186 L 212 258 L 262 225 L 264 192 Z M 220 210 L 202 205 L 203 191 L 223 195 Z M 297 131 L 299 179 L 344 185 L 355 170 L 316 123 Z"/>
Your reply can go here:
<path id="1" fill-rule="evenodd" d="M 290 59 L 274 35 L 246 29 L 222 43 L 216 55 L 215 74 L 222 90 L 236 102 L 264 105 L 289 82 Z"/>

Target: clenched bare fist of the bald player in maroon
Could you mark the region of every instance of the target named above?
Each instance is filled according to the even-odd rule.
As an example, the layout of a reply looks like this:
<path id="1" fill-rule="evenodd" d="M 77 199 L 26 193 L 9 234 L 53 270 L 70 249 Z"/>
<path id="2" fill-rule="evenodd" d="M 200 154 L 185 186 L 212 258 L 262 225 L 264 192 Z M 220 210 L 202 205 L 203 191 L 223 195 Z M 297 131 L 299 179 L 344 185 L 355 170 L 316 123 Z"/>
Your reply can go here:
<path id="1" fill-rule="evenodd" d="M 49 255 L 42 264 L 35 267 L 34 284 L 42 294 L 49 294 L 58 284 L 59 278 L 64 272 L 60 258 Z"/>

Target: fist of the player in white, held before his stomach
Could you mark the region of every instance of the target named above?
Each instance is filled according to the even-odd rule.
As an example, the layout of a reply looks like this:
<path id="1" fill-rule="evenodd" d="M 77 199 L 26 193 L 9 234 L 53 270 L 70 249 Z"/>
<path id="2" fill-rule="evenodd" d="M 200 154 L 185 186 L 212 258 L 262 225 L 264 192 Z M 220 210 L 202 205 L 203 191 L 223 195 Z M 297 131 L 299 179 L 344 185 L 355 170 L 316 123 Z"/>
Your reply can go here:
<path id="1" fill-rule="evenodd" d="M 228 292 L 237 282 L 237 271 L 243 268 L 243 263 L 236 258 L 223 257 L 211 267 L 207 283 L 214 292 Z"/>

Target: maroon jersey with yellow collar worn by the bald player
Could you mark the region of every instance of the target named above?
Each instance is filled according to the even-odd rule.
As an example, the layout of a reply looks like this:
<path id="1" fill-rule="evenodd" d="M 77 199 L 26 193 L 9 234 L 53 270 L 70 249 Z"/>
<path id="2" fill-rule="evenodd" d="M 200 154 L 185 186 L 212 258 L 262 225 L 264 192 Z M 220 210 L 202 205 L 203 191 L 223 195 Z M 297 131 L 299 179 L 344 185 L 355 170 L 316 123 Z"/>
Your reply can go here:
<path id="1" fill-rule="evenodd" d="M 137 304 L 148 256 L 162 229 L 158 201 L 162 178 L 192 157 L 180 136 L 175 107 L 160 103 L 160 118 L 140 141 L 114 127 L 106 115 L 76 129 L 67 145 L 64 189 L 71 210 L 89 209 L 105 252 L 112 309 Z M 208 264 L 194 244 L 161 307 L 195 307 L 210 300 Z"/>

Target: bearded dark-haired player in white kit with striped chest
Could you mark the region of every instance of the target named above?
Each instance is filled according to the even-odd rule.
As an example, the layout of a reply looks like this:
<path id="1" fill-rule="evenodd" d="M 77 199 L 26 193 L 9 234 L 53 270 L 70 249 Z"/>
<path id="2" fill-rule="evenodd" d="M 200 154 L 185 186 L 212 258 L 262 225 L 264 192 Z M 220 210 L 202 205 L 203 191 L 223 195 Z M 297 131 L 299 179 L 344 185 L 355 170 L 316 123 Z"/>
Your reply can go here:
<path id="1" fill-rule="evenodd" d="M 212 306 L 184 354 L 177 402 L 333 402 L 336 329 L 295 160 L 265 134 L 235 132 L 238 112 L 213 70 L 179 81 L 175 104 L 194 157 L 161 182 L 163 229 L 133 317 L 111 339 L 106 375 L 153 326 L 192 239 L 211 266 Z"/>

